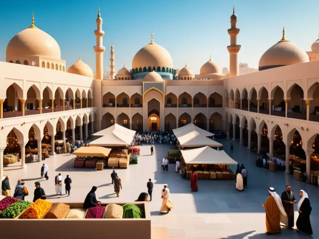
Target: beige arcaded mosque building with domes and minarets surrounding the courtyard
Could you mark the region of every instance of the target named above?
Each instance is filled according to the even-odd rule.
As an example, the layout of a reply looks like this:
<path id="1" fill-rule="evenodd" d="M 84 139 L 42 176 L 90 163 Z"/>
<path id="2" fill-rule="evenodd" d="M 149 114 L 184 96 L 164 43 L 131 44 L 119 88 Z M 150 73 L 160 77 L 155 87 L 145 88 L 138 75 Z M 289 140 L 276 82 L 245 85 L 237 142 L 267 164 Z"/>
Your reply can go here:
<path id="1" fill-rule="evenodd" d="M 319 39 L 305 52 L 286 40 L 283 30 L 282 39 L 261 56 L 259 71 L 239 76 L 240 29 L 233 10 L 227 30 L 230 44 L 225 46 L 230 59 L 228 76 L 211 57 L 199 74 L 187 65 L 176 70 L 169 52 L 155 43 L 152 33 L 150 43 L 135 54 L 131 67 L 124 65 L 117 72 L 112 44 L 113 80 L 103 80 L 106 48 L 100 10 L 96 25 L 95 76 L 80 57 L 66 69 L 58 43 L 35 26 L 34 17 L 30 27 L 10 40 L 6 62 L 0 62 L 4 83 L 0 89 L 0 158 L 12 132 L 24 158 L 31 128 L 41 155 L 46 134 L 54 146 L 58 132 L 65 144 L 67 130 L 73 139 L 84 139 L 114 123 L 145 131 L 171 130 L 193 122 L 206 130 L 224 131 L 229 139 L 239 138 L 241 143 L 248 134 L 248 148 L 256 134 L 258 151 L 267 128 L 270 153 L 278 127 L 288 151 L 298 131 L 310 173 L 312 145 L 319 133 Z M 24 165 L 21 162 L 21 167 Z M 1 163 L 0 170 L 3 175 Z"/>

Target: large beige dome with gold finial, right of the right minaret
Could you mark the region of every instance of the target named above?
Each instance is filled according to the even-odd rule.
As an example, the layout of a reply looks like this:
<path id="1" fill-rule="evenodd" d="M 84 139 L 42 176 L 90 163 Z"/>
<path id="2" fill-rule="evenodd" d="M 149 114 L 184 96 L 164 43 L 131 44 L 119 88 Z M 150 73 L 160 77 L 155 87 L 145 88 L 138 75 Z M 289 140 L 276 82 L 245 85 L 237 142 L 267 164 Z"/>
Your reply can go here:
<path id="1" fill-rule="evenodd" d="M 259 60 L 259 70 L 271 69 L 279 66 L 309 62 L 307 53 L 297 45 L 283 38 L 270 47 Z"/>

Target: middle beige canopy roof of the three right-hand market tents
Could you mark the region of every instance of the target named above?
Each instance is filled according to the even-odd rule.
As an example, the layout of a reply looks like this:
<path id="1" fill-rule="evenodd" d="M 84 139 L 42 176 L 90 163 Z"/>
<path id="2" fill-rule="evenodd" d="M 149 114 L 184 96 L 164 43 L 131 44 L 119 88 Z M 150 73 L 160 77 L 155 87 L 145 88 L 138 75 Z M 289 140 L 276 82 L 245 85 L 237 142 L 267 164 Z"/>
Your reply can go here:
<path id="1" fill-rule="evenodd" d="M 223 146 L 221 143 L 211 140 L 205 137 L 204 135 L 199 134 L 196 131 L 192 131 L 188 134 L 177 137 L 177 139 L 181 147 L 200 147 L 200 146 L 222 147 Z"/>

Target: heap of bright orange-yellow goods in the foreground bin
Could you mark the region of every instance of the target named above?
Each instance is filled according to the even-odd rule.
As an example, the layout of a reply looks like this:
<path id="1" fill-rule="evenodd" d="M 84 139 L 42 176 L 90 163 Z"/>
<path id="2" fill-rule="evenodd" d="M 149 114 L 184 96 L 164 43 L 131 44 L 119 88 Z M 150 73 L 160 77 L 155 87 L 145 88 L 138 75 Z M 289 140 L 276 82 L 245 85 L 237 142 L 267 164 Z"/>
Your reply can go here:
<path id="1" fill-rule="evenodd" d="M 21 219 L 42 219 L 52 205 L 52 202 L 38 199 L 24 211 Z"/>

